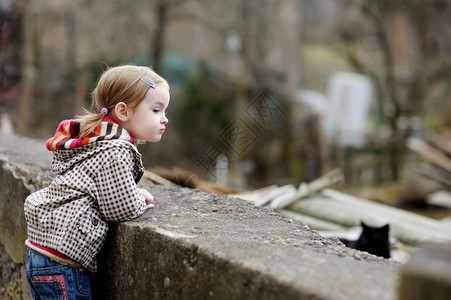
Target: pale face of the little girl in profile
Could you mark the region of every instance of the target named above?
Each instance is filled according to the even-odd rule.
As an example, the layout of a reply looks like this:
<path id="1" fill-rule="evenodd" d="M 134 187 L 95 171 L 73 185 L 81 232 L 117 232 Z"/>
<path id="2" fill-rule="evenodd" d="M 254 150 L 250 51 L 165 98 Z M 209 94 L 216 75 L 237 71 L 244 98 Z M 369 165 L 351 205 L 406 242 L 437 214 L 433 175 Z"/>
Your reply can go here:
<path id="1" fill-rule="evenodd" d="M 169 89 L 165 86 L 150 88 L 143 101 L 134 108 L 127 108 L 128 120 L 121 124 L 134 140 L 159 142 L 168 119 Z"/>

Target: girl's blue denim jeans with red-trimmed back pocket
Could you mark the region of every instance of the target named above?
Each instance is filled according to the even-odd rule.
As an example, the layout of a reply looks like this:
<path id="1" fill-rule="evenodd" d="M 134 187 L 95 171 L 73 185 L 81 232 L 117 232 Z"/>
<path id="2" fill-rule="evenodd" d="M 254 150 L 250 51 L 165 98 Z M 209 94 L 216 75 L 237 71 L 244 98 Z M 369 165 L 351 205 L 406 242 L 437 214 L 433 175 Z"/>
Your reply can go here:
<path id="1" fill-rule="evenodd" d="M 89 271 L 59 264 L 30 248 L 25 275 L 34 300 L 92 299 Z"/>

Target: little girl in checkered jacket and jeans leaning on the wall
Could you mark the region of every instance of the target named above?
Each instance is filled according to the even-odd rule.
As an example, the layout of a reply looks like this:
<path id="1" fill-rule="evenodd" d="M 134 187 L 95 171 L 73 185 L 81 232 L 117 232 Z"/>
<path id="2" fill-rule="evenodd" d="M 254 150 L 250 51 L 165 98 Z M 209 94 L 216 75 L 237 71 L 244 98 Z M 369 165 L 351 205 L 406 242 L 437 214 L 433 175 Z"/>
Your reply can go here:
<path id="1" fill-rule="evenodd" d="M 56 177 L 25 200 L 34 299 L 91 299 L 89 276 L 108 222 L 153 207 L 153 196 L 137 187 L 144 168 L 134 141 L 160 141 L 168 83 L 147 67 L 114 67 L 102 74 L 92 100 L 94 113 L 62 121 L 47 141 Z"/>

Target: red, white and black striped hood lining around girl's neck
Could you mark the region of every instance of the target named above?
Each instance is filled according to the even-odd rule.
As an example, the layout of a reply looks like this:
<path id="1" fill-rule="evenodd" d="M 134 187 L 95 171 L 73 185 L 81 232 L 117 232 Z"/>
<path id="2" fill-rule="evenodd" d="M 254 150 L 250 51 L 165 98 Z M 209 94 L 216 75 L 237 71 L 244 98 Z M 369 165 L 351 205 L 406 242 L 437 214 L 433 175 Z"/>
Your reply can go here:
<path id="1" fill-rule="evenodd" d="M 135 142 L 130 134 L 110 118 L 104 117 L 103 122 L 88 136 L 79 138 L 83 125 L 74 120 L 62 121 L 55 136 L 48 139 L 46 147 L 50 151 L 76 149 L 86 144 L 105 140 L 125 140 L 133 145 Z"/>

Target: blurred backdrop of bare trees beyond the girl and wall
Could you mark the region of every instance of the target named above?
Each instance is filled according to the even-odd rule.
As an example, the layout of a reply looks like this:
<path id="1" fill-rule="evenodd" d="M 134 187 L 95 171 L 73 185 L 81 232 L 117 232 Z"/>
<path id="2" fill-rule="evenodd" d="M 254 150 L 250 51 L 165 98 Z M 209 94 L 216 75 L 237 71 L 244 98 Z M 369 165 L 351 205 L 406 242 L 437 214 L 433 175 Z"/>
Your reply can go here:
<path id="1" fill-rule="evenodd" d="M 169 124 L 146 168 L 232 188 L 309 182 L 380 201 L 406 141 L 451 124 L 450 0 L 0 0 L 3 132 L 45 139 L 108 66 L 152 66 Z M 448 181 L 449 184 L 449 181 Z"/>

